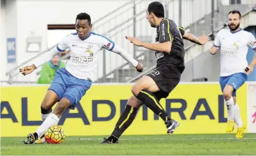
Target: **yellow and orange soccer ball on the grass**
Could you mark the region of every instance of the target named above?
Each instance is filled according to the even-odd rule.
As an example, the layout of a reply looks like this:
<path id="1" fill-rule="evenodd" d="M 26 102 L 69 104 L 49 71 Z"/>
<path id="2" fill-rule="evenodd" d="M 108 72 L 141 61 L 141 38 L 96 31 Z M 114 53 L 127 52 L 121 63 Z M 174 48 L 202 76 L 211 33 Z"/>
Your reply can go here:
<path id="1" fill-rule="evenodd" d="M 45 141 L 51 144 L 59 144 L 64 142 L 64 131 L 60 126 L 51 126 L 44 134 Z"/>

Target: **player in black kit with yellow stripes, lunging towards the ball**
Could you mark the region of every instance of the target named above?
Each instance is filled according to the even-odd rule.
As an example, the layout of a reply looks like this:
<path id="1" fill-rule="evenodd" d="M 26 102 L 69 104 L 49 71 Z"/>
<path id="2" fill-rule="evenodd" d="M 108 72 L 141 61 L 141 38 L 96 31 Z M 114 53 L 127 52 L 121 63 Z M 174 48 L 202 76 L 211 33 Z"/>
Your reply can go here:
<path id="1" fill-rule="evenodd" d="M 136 46 L 156 51 L 156 70 L 143 76 L 131 89 L 133 96 L 128 100 L 125 110 L 116 123 L 113 133 L 102 143 L 118 143 L 119 137 L 131 125 L 136 113 L 143 104 L 159 115 L 165 122 L 167 133 L 172 134 L 179 126 L 179 122 L 163 110 L 160 99 L 166 98 L 179 84 L 180 76 L 185 69 L 183 39 L 190 40 L 198 45 L 209 41 L 203 35 L 195 37 L 178 27 L 173 20 L 165 19 L 165 11 L 160 2 L 151 2 L 146 12 L 151 27 L 157 28 L 156 43 L 143 43 L 135 37 L 126 37 Z"/>

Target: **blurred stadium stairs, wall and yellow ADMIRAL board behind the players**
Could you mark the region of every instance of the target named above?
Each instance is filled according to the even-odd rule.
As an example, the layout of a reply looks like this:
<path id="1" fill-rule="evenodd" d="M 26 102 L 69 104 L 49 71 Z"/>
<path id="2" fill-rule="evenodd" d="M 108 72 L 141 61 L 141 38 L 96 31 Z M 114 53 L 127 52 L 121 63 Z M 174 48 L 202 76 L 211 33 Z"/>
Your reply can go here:
<path id="1" fill-rule="evenodd" d="M 131 96 L 132 83 L 154 70 L 156 65 L 153 52 L 137 48 L 125 39 L 125 36 L 134 36 L 144 42 L 154 42 L 156 30 L 146 19 L 146 8 L 150 2 L 153 1 L 1 0 L 1 136 L 26 136 L 41 123 L 40 104 L 48 85 L 36 84 L 40 68 L 27 76 L 22 76 L 19 68 L 40 59 L 63 37 L 74 33 L 75 18 L 81 12 L 90 14 L 95 33 L 110 38 L 145 66 L 143 73 L 137 73 L 119 55 L 104 50 L 93 87 L 80 102 L 82 107 L 65 114 L 66 118 L 72 119 L 62 120 L 68 136 L 110 134 L 123 104 Z M 182 83 L 161 104 L 169 113 L 176 111 L 172 112 L 172 116 L 183 123 L 177 134 L 225 133 L 226 108 L 218 86 L 220 53 L 210 55 L 209 49 L 215 34 L 222 28 L 228 28 L 228 12 L 234 9 L 242 14 L 241 28 L 256 36 L 256 0 L 160 2 L 165 6 L 166 17 L 196 36 L 206 34 L 212 39 L 204 46 L 185 41 L 186 69 Z M 254 54 L 250 49 L 249 62 Z M 69 57 L 68 50 L 61 54 L 64 62 Z M 238 91 L 238 103 L 243 120 L 248 124 L 248 133 L 256 133 L 255 81 L 256 69 Z M 162 122 L 153 113 L 145 113 L 145 110 L 143 108 L 143 112 L 139 112 L 134 125 L 125 134 L 166 133 Z M 77 119 L 79 117 L 82 120 Z M 189 129 L 194 124 L 199 124 L 200 128 Z M 143 128 L 141 125 L 144 125 Z M 74 130 L 74 126 L 78 128 Z M 97 129 L 99 126 L 104 128 Z M 157 126 L 161 127 L 160 130 Z M 145 133 L 148 128 L 151 130 Z M 10 129 L 18 129 L 18 132 L 11 133 Z"/>

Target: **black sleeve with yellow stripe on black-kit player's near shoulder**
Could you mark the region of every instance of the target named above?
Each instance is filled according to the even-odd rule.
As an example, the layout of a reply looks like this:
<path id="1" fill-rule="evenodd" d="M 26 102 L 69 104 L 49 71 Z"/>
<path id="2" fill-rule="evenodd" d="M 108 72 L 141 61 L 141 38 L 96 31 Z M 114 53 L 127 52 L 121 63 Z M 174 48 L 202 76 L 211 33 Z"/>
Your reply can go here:
<path id="1" fill-rule="evenodd" d="M 159 42 L 163 43 L 163 42 L 172 42 L 173 40 L 173 35 L 172 32 L 170 31 L 170 22 L 168 19 L 163 19 L 162 22 L 160 22 L 159 25 Z"/>

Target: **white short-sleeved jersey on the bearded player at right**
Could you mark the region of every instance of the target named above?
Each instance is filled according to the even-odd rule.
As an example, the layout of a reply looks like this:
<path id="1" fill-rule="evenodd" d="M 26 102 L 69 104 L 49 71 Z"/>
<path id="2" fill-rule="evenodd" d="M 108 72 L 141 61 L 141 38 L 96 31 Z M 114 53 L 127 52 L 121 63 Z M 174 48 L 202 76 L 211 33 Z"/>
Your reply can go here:
<path id="1" fill-rule="evenodd" d="M 245 73 L 248 66 L 248 48 L 251 46 L 256 49 L 256 40 L 248 31 L 231 32 L 229 29 L 223 29 L 215 37 L 214 46 L 220 47 L 220 76 L 229 76 L 239 72 Z"/>

